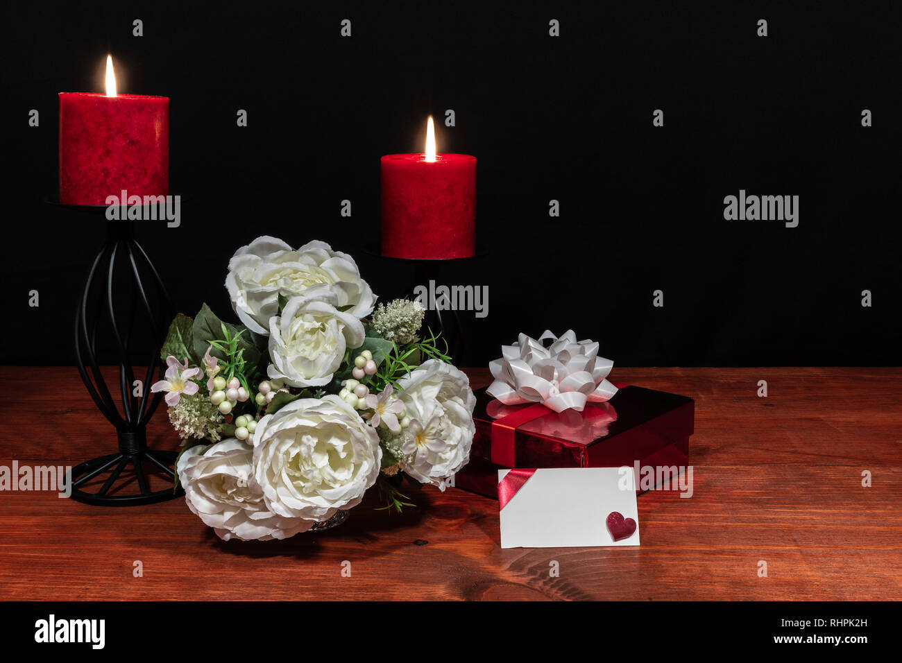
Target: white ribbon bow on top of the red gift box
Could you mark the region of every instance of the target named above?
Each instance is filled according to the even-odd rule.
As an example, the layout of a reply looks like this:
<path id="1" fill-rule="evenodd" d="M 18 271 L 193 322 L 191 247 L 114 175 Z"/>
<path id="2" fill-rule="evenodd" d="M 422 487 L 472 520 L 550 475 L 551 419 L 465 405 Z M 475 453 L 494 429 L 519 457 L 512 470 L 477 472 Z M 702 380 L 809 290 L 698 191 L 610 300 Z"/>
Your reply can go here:
<path id="1" fill-rule="evenodd" d="M 545 347 L 548 339 L 551 345 Z M 485 391 L 505 405 L 543 403 L 556 412 L 581 412 L 586 401 L 608 401 L 617 393 L 605 379 L 613 365 L 598 356 L 597 342 L 577 341 L 573 329 L 559 338 L 546 329 L 538 341 L 520 334 L 489 364 L 495 381 Z"/>

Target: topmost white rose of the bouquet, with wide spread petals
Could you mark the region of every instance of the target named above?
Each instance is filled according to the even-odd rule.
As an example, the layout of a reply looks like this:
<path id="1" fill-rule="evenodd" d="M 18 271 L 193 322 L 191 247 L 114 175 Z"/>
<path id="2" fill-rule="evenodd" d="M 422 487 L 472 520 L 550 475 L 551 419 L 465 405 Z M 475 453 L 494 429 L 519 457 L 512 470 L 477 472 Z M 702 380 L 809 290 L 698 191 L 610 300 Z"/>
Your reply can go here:
<path id="1" fill-rule="evenodd" d="M 297 251 L 281 239 L 263 235 L 242 246 L 228 263 L 226 289 L 238 318 L 256 334 L 270 333 L 270 318 L 279 312 L 279 295 L 292 297 L 311 290 L 336 296 L 336 306 L 355 318 L 373 312 L 376 297 L 360 278 L 357 263 L 325 242 L 308 242 Z"/>

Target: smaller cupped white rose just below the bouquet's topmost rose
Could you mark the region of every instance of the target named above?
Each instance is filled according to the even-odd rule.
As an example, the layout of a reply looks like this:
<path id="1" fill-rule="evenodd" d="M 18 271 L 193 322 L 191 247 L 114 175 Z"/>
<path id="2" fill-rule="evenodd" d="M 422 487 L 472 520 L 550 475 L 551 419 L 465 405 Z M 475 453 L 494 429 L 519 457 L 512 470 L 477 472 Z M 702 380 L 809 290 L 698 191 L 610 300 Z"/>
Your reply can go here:
<path id="1" fill-rule="evenodd" d="M 364 344 L 364 324 L 334 305 L 336 296 L 322 292 L 292 297 L 281 316 L 270 318 L 270 360 L 266 373 L 292 387 L 319 387 L 345 358 L 345 349 Z"/>

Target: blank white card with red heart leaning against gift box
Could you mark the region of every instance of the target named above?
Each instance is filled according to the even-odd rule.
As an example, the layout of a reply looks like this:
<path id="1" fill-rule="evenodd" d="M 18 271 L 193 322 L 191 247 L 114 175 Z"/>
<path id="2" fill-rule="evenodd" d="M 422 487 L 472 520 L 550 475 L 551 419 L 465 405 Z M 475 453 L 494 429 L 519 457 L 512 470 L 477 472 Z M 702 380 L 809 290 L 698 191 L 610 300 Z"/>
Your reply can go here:
<path id="1" fill-rule="evenodd" d="M 638 546 L 635 476 L 629 469 L 536 470 L 501 510 L 502 548 Z M 499 483 L 509 472 L 498 471 Z M 629 537 L 616 541 L 607 525 L 608 516 L 614 511 L 636 523 Z"/>

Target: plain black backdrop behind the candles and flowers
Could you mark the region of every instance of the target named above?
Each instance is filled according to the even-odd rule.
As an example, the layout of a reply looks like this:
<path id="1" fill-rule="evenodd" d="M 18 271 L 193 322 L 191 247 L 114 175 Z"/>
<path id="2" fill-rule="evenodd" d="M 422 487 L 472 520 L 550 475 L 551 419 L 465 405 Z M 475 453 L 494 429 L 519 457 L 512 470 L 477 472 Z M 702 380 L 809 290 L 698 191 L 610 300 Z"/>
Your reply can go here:
<path id="1" fill-rule="evenodd" d="M 102 91 L 111 52 L 120 92 L 170 97 L 181 226 L 140 238 L 178 310 L 233 319 L 226 264 L 263 234 L 352 253 L 381 299 L 408 290 L 409 266 L 367 253 L 379 157 L 421 152 L 432 114 L 439 152 L 478 159 L 488 251 L 441 274 L 489 286 L 457 364 L 573 327 L 621 365 L 898 365 L 898 5 L 5 3 L 0 361 L 74 361 L 103 224 L 44 200 L 57 93 Z M 798 195 L 799 226 L 725 221 L 740 189 Z"/>

